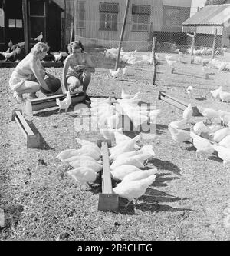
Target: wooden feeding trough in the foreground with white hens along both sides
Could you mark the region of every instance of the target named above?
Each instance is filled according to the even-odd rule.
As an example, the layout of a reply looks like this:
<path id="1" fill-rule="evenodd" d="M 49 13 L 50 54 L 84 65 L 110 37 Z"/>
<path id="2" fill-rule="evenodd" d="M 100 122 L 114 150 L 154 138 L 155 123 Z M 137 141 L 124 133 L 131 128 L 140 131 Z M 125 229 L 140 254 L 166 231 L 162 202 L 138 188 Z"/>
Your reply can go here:
<path id="1" fill-rule="evenodd" d="M 113 194 L 112 181 L 110 175 L 110 161 L 108 147 L 111 146 L 110 140 L 98 140 L 98 147 L 102 152 L 103 171 L 101 175 L 102 193 L 99 194 L 98 210 L 117 211 L 119 207 L 118 194 Z"/>

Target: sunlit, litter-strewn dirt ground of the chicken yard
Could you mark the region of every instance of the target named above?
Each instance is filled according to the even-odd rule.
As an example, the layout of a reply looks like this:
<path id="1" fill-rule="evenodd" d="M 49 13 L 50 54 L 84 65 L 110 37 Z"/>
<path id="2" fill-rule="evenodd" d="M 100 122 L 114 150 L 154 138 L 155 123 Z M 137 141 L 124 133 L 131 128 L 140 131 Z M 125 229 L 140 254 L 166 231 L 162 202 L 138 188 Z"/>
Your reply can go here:
<path id="1" fill-rule="evenodd" d="M 229 240 L 230 238 L 230 168 L 212 155 L 197 159 L 191 143 L 182 147 L 172 141 L 170 121 L 179 120 L 182 111 L 157 99 L 159 91 L 214 109 L 230 111 L 230 105 L 216 101 L 209 90 L 222 85 L 230 91 L 230 73 L 212 70 L 209 80 L 200 65 L 177 63 L 176 74 L 170 74 L 163 54 L 153 85 L 153 66 L 136 67 L 134 76 L 119 80 L 110 77 L 108 68 L 114 62 L 102 62 L 94 56 L 96 73 L 88 95 L 120 97 L 121 85 L 130 93 L 141 92 L 145 102 L 161 109 L 157 118 L 156 138 L 149 135 L 140 145 L 153 145 L 156 156 L 146 168 L 157 168 L 156 181 L 137 204 L 118 212 L 97 211 L 100 181 L 84 192 L 69 176 L 69 166 L 56 155 L 67 148 L 80 148 L 76 137 L 97 141 L 99 131 L 76 131 L 77 114 L 71 107 L 67 114 L 58 108 L 38 111 L 32 124 L 42 137 L 41 148 L 26 148 L 25 138 L 15 121 L 11 121 L 15 103 L 8 88 L 12 68 L 0 70 L 1 138 L 0 138 L 0 208 L 5 211 L 5 228 L 0 240 L 136 240 L 183 241 Z M 104 59 L 103 55 L 101 58 Z M 48 68 L 61 78 L 61 68 Z M 192 85 L 191 99 L 186 88 Z M 41 96 L 41 93 L 40 93 Z M 192 118 L 192 122 L 201 118 Z M 134 133 L 130 133 L 134 136 Z"/>

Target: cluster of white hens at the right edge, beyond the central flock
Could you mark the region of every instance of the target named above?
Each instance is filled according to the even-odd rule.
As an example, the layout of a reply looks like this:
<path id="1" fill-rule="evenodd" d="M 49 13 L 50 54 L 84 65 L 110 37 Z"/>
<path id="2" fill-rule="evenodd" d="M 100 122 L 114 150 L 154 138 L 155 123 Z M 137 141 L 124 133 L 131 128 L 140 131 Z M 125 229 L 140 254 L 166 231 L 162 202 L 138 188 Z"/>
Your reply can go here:
<path id="1" fill-rule="evenodd" d="M 206 119 L 191 125 L 193 114 L 192 105 L 183 111 L 182 119 L 169 123 L 169 132 L 173 141 L 182 144 L 184 141 L 192 141 L 196 148 L 196 156 L 207 156 L 217 152 L 223 160 L 224 166 L 230 163 L 230 112 L 216 111 L 212 108 L 198 107 L 199 112 Z M 205 121 L 205 122 L 204 122 Z M 209 125 L 208 122 L 209 121 Z M 187 125 L 191 125 L 188 131 Z M 223 127 L 222 125 L 228 127 Z"/>

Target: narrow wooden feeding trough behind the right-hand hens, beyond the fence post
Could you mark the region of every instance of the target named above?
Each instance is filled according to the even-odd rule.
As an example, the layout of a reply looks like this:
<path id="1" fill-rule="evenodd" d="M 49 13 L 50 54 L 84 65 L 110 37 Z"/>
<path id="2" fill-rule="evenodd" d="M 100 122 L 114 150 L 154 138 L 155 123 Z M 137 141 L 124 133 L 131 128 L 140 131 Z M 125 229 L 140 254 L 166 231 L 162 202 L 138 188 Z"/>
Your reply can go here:
<path id="1" fill-rule="evenodd" d="M 179 100 L 178 98 L 172 97 L 171 95 L 166 94 L 165 91 L 159 91 L 158 99 L 166 101 L 170 105 L 172 105 L 176 108 L 179 108 L 182 111 L 184 111 L 188 107 L 188 104 L 186 102 Z M 192 116 L 202 116 L 202 114 L 199 112 L 199 110 L 196 106 L 193 106 L 192 109 L 193 109 Z"/>

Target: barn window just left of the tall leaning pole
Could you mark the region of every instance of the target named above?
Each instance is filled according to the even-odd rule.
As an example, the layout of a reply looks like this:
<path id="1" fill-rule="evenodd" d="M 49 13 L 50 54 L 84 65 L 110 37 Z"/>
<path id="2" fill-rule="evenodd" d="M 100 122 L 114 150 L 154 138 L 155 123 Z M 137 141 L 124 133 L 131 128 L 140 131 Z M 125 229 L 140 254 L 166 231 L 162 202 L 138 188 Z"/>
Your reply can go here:
<path id="1" fill-rule="evenodd" d="M 100 29 L 117 30 L 117 3 L 100 2 Z"/>

